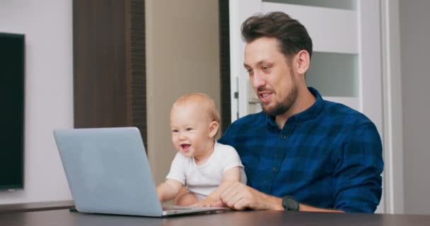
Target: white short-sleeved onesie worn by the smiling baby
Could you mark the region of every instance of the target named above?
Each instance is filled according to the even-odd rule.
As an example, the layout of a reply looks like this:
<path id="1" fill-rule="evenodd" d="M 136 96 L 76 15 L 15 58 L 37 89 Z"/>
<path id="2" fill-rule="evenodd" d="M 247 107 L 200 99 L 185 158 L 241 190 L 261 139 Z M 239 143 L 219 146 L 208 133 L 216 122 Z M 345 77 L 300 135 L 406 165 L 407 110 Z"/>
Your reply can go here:
<path id="1" fill-rule="evenodd" d="M 197 165 L 194 157 L 177 153 L 166 179 L 174 179 L 187 186 L 199 200 L 206 198 L 221 184 L 227 169 L 240 167 L 240 182 L 246 184 L 246 175 L 236 150 L 230 145 L 215 142 L 214 153 L 204 165 Z"/>

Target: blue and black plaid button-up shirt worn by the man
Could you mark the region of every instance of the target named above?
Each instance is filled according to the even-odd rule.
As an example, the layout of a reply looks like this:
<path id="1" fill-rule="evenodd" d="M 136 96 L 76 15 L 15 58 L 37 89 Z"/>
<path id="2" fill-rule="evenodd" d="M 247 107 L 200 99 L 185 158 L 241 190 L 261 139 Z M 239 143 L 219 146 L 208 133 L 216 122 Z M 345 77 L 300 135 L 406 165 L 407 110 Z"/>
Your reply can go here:
<path id="1" fill-rule="evenodd" d="M 248 185 L 273 196 L 347 212 L 373 213 L 382 193 L 382 144 L 364 114 L 322 100 L 279 129 L 264 112 L 233 122 L 219 143 L 232 145 Z"/>

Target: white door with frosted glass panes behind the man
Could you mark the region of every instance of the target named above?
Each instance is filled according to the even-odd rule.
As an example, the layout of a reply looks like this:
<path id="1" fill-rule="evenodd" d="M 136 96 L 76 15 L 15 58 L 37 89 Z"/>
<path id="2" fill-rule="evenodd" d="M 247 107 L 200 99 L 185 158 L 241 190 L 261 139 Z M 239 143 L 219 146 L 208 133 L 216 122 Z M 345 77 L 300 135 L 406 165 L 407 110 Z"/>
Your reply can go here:
<path id="1" fill-rule="evenodd" d="M 240 25 L 255 13 L 283 11 L 299 20 L 313 40 L 306 83 L 325 100 L 348 105 L 369 117 L 383 138 L 380 1 L 230 0 L 231 121 L 260 112 L 243 69 Z M 235 95 L 236 93 L 236 95 Z M 384 193 L 377 213 L 384 213 Z"/>

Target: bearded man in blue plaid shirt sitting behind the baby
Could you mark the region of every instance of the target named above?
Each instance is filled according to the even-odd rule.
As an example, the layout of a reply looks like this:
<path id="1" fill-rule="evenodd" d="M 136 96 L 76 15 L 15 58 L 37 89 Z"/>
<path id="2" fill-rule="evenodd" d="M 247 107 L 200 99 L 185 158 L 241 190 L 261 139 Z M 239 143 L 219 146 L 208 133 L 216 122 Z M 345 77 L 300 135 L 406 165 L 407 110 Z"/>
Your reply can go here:
<path id="1" fill-rule="evenodd" d="M 245 20 L 242 35 L 263 112 L 233 122 L 219 140 L 238 150 L 248 186 L 233 184 L 214 206 L 373 213 L 382 193 L 380 136 L 364 114 L 306 86 L 306 28 L 274 12 Z"/>

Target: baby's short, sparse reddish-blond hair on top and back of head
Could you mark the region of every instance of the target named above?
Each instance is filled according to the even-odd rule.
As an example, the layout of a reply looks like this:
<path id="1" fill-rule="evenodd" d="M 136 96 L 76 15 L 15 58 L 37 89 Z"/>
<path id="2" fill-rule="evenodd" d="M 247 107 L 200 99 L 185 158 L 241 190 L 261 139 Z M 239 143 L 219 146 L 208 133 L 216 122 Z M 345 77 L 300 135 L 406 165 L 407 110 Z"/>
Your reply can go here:
<path id="1" fill-rule="evenodd" d="M 219 112 L 216 109 L 215 101 L 212 99 L 212 97 L 204 93 L 188 93 L 182 95 L 182 97 L 179 97 L 179 99 L 173 104 L 172 109 L 175 107 L 175 105 L 177 106 L 188 102 L 197 104 L 198 109 L 201 109 L 203 112 L 207 112 L 207 115 L 211 121 L 216 121 L 219 124 L 219 127 L 221 126 Z M 218 134 L 219 129 L 216 131 L 215 136 Z"/>

